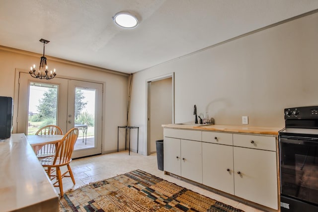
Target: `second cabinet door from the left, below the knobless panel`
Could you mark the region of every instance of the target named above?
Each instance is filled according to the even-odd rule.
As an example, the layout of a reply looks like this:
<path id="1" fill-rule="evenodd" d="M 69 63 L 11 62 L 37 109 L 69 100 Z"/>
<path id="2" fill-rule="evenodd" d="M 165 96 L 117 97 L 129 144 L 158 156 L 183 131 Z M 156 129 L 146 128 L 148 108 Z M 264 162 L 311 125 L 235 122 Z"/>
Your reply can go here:
<path id="1" fill-rule="evenodd" d="M 202 183 L 202 142 L 181 140 L 181 176 Z"/>

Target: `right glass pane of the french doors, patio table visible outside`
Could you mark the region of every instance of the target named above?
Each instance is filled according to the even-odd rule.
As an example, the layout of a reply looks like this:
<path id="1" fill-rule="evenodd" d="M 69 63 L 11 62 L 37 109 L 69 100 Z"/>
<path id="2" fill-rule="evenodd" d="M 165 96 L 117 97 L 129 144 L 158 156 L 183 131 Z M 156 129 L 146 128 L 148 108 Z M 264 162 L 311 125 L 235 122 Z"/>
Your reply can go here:
<path id="1" fill-rule="evenodd" d="M 75 88 L 75 122 L 79 138 L 74 150 L 95 147 L 95 96 L 96 89 Z"/>

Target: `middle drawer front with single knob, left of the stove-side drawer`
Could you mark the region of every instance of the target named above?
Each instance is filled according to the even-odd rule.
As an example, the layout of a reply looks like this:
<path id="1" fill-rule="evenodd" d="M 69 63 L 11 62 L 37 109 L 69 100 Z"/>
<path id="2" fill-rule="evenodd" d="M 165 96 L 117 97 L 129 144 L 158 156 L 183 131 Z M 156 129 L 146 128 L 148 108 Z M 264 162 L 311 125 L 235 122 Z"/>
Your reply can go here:
<path id="1" fill-rule="evenodd" d="M 233 134 L 203 131 L 202 141 L 209 142 L 209 143 L 233 145 Z"/>

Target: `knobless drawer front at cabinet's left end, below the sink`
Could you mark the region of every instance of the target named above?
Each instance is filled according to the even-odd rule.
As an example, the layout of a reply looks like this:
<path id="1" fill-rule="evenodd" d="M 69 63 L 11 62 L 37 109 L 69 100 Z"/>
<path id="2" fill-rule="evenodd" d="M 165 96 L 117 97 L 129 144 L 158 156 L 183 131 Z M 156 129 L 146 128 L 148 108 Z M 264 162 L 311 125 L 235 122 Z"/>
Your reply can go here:
<path id="1" fill-rule="evenodd" d="M 163 130 L 163 136 L 169 138 L 193 140 L 193 141 L 202 141 L 201 131 L 194 130 L 175 130 L 165 128 Z"/>

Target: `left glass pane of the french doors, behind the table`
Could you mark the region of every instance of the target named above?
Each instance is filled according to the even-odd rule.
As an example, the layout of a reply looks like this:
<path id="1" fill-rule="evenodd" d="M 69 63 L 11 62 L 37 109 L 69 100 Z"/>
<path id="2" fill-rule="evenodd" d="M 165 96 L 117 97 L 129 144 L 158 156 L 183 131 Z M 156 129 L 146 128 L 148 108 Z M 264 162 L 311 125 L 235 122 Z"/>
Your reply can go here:
<path id="1" fill-rule="evenodd" d="M 56 84 L 30 81 L 27 135 L 46 125 L 57 125 L 58 90 Z"/>

